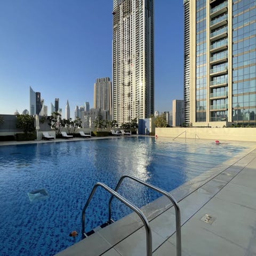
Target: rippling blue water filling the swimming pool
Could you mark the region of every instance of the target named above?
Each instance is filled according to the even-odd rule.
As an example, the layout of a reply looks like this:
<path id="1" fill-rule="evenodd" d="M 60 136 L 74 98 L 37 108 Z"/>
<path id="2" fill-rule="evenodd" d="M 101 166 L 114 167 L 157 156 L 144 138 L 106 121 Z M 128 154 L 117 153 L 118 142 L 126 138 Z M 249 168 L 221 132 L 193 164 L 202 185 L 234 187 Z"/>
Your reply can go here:
<path id="1" fill-rule="evenodd" d="M 81 237 L 81 212 L 95 182 L 115 188 L 121 175 L 131 174 L 170 191 L 244 149 L 149 137 L 2 146 L 0 255 L 47 256 L 72 245 L 69 233 Z M 28 193 L 37 189 L 49 197 L 30 202 Z M 159 196 L 131 180 L 119 192 L 139 207 Z M 86 231 L 107 220 L 108 198 L 97 190 Z M 130 213 L 117 201 L 112 209 L 114 219 Z"/>

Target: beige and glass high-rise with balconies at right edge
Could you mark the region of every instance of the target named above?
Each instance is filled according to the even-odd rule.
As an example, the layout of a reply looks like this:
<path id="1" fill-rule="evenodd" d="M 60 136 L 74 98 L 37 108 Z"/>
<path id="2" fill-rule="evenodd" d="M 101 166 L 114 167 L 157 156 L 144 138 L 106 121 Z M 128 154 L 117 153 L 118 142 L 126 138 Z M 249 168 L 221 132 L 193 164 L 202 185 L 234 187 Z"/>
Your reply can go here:
<path id="1" fill-rule="evenodd" d="M 255 124 L 255 0 L 184 0 L 185 122 Z"/>

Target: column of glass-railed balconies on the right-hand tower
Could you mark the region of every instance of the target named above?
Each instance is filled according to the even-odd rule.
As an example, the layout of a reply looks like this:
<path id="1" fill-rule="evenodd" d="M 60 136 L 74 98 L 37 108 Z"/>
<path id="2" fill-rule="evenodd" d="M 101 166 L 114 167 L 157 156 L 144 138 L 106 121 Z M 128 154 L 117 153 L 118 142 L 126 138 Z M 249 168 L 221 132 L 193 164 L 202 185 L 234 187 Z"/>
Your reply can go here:
<path id="1" fill-rule="evenodd" d="M 228 119 L 228 1 L 210 6 L 210 121 Z"/>

